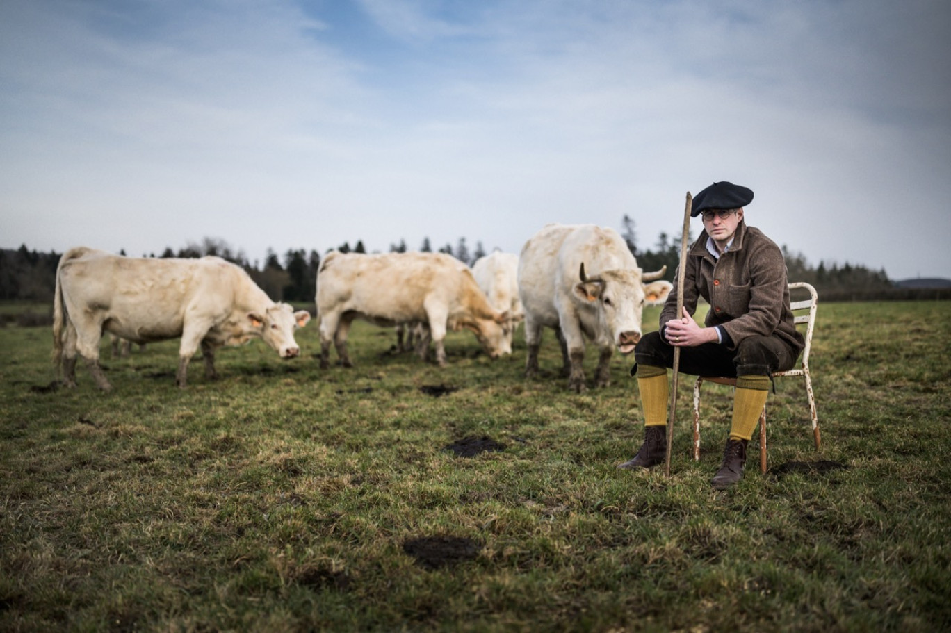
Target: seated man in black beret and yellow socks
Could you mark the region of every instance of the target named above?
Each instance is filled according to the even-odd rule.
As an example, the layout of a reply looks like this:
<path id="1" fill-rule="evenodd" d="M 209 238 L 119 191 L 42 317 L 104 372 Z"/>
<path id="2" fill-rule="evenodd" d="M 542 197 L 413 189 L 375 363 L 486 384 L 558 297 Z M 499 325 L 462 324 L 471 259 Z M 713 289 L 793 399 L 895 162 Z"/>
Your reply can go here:
<path id="1" fill-rule="evenodd" d="M 778 246 L 747 226 L 745 207 L 753 192 L 732 182 L 714 182 L 693 199 L 690 216 L 704 230 L 690 246 L 684 271 L 684 309 L 677 315 L 677 281 L 660 316 L 660 329 L 634 349 L 644 412 L 644 445 L 619 469 L 650 468 L 667 457 L 667 418 L 674 347 L 679 371 L 736 377 L 733 418 L 715 489 L 743 477 L 747 442 L 766 404 L 771 372 L 791 369 L 804 347 L 789 309 L 786 261 Z M 699 297 L 710 305 L 707 327 L 691 315 Z"/>

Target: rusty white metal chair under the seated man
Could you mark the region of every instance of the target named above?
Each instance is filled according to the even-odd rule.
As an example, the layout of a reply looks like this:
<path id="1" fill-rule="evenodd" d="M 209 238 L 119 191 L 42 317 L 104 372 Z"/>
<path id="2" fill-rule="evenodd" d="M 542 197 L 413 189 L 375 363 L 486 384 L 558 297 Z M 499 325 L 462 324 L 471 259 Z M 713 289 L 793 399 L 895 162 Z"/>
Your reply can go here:
<path id="1" fill-rule="evenodd" d="M 793 315 L 796 325 L 805 325 L 805 348 L 800 356 L 800 367 L 787 370 L 786 372 L 773 372 L 769 374 L 772 378 L 785 376 L 803 376 L 805 379 L 805 394 L 809 400 L 809 415 L 812 417 L 812 436 L 816 442 L 816 451 L 820 449 L 819 440 L 819 418 L 816 415 L 816 398 L 812 393 L 812 377 L 809 374 L 809 352 L 812 348 L 812 332 L 816 325 L 816 308 L 818 307 L 819 296 L 816 289 L 804 281 L 794 281 L 789 284 L 789 290 L 805 288 L 809 292 L 809 298 L 802 301 L 791 301 Z M 736 378 L 724 376 L 698 376 L 693 384 L 693 459 L 700 459 L 700 385 L 707 382 L 714 382 L 720 385 L 731 385 L 736 387 Z M 760 413 L 760 471 L 767 471 L 767 408 L 763 407 Z"/>

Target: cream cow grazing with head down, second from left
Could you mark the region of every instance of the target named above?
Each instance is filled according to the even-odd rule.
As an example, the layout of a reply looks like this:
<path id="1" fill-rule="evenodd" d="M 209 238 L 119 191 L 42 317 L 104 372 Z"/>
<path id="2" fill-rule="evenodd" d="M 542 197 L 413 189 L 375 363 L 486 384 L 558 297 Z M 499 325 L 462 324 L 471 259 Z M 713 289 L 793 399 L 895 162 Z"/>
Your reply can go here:
<path id="1" fill-rule="evenodd" d="M 501 324 L 508 318 L 493 310 L 469 267 L 452 256 L 336 251 L 320 262 L 317 315 L 320 367 L 324 369 L 330 366 L 331 340 L 340 363 L 353 366 L 347 354 L 347 335 L 358 317 L 382 327 L 425 323 L 436 344 L 440 367 L 446 364 L 443 339 L 447 329 L 471 330 L 485 352 L 495 358 L 502 345 Z"/>

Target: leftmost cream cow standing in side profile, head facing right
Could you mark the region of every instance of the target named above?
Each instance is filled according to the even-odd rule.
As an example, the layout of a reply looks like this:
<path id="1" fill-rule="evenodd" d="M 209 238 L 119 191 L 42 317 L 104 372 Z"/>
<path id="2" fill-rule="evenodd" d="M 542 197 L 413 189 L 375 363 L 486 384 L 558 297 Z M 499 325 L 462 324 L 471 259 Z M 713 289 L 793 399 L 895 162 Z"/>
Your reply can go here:
<path id="1" fill-rule="evenodd" d="M 188 361 L 202 347 L 204 374 L 217 377 L 215 349 L 260 336 L 281 358 L 301 354 L 294 329 L 310 320 L 275 303 L 239 266 L 216 257 L 137 259 L 73 248 L 56 269 L 53 360 L 67 387 L 76 386 L 76 354 L 96 385 L 111 389 L 99 366 L 104 332 L 135 343 L 182 338 L 176 380 L 185 386 Z"/>

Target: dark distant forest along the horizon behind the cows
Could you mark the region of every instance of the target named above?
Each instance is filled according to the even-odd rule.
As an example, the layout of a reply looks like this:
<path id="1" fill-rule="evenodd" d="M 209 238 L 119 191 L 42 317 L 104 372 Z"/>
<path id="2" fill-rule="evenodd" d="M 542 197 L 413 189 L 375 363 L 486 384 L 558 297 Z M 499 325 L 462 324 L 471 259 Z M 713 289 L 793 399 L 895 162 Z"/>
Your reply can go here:
<path id="1" fill-rule="evenodd" d="M 641 250 L 636 245 L 634 221 L 625 216 L 621 227 L 621 237 L 627 242 L 638 265 L 649 271 L 659 270 L 666 265 L 666 278 L 672 280 L 680 262 L 679 239 L 667 233 L 661 233 L 653 248 Z M 693 240 L 692 235 L 689 240 Z M 352 247 L 349 242 L 344 242 L 337 247 L 337 250 L 345 253 L 367 252 L 362 240 L 357 240 Z M 402 253 L 407 250 L 411 249 L 407 248 L 405 240 L 390 244 L 391 252 Z M 429 238 L 422 241 L 418 250 L 433 251 Z M 482 242 L 476 242 L 475 248 L 470 249 L 465 238 L 459 238 L 455 247 L 447 243 L 438 248 L 437 252 L 452 255 L 469 265 L 486 255 Z M 126 255 L 125 252 L 121 254 Z M 791 252 L 785 245 L 783 254 L 786 257 L 789 280 L 811 283 L 823 300 L 951 298 L 951 288 L 897 287 L 884 270 L 873 271 L 861 264 L 848 262 L 840 265 L 820 261 L 818 265 L 813 266 L 802 254 Z M 26 244 L 17 250 L 0 250 L 0 300 L 51 302 L 56 266 L 61 255 L 54 252 L 31 251 Z M 200 258 L 206 255 L 216 255 L 242 266 L 262 290 L 274 300 L 299 304 L 314 301 L 317 271 L 320 267 L 320 254 L 316 250 L 310 252 L 303 249 L 288 250 L 281 256 L 270 250 L 262 264 L 257 261 L 252 264 L 242 250 L 235 250 L 223 240 L 204 238 L 201 243 L 189 242 L 178 251 L 166 247 L 161 255 L 150 254 L 148 257 Z"/>

